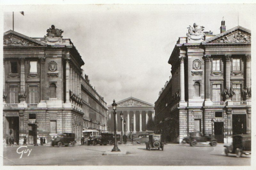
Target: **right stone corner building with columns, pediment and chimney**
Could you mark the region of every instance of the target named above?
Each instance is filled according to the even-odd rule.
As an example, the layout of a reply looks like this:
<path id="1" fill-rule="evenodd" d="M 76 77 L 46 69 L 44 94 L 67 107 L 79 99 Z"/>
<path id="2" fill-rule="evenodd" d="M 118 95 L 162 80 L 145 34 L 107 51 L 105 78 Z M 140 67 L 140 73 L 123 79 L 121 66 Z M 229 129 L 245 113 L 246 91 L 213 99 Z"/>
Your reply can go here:
<path id="1" fill-rule="evenodd" d="M 172 51 L 172 77 L 155 102 L 156 131 L 167 141 L 200 131 L 230 143 L 251 132 L 251 31 L 220 28 L 213 35 L 194 24 Z"/>

